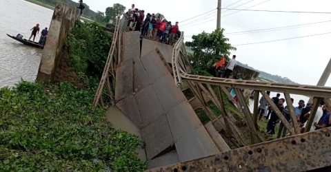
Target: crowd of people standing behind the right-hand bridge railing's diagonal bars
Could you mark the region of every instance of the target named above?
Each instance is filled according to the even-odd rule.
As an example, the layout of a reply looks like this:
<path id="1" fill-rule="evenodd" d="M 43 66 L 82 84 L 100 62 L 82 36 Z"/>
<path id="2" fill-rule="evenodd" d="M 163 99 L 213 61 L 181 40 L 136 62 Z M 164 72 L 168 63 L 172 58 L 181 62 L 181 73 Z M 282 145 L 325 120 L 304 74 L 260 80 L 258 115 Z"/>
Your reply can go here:
<path id="1" fill-rule="evenodd" d="M 267 92 L 268 95 L 270 95 L 270 92 Z M 272 101 L 274 102 L 275 105 L 277 105 L 277 108 L 285 119 L 291 123 L 292 118 L 290 116 L 290 109 L 288 106 L 284 107 L 285 99 L 280 98 L 281 94 L 277 94 L 277 96 L 272 98 Z M 291 98 L 292 104 L 294 102 L 294 99 Z M 275 134 L 275 128 L 276 125 L 279 124 L 279 131 L 277 133 L 277 138 L 283 138 L 287 134 L 287 129 L 283 122 L 279 119 L 279 116 L 277 116 L 276 111 L 272 109 L 270 105 L 268 105 L 267 100 L 264 97 L 261 97 L 259 100 L 259 109 L 258 109 L 258 119 L 261 120 L 261 118 L 265 118 L 268 120 L 268 125 L 267 125 L 267 133 L 268 134 Z M 298 106 L 293 107 L 293 111 L 295 114 L 295 120 L 297 120 L 299 127 L 301 128 L 301 132 L 305 130 L 305 125 L 307 124 L 308 118 L 310 116 L 310 111 L 312 110 L 312 103 L 307 103 L 305 105 L 304 100 L 299 100 Z M 312 127 L 310 128 L 310 131 L 313 131 L 315 129 L 322 129 L 325 127 L 330 127 L 331 126 L 331 118 L 330 118 L 330 109 L 328 105 L 325 103 L 322 103 L 319 105 L 317 109 L 317 113 L 314 116 L 314 122 Z"/>

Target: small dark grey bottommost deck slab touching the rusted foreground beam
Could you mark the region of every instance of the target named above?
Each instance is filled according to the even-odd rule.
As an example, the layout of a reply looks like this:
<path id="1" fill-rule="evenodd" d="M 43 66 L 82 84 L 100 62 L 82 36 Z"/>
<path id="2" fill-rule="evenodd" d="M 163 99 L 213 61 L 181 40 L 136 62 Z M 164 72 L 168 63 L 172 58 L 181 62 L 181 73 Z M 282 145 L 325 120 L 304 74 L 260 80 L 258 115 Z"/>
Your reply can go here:
<path id="1" fill-rule="evenodd" d="M 178 153 L 176 150 L 172 150 L 165 155 L 154 158 L 153 160 L 148 161 L 147 169 L 153 169 L 159 166 L 166 166 L 179 162 Z"/>

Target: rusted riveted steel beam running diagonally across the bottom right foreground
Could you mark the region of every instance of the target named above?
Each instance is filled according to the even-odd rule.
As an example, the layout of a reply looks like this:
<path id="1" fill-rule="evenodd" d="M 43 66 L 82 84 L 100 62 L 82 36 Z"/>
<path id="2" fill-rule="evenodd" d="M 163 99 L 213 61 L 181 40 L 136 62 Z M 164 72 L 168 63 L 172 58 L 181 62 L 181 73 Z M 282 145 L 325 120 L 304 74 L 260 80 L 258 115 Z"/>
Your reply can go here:
<path id="1" fill-rule="evenodd" d="M 331 166 L 330 147 L 328 128 L 148 171 L 308 171 Z"/>

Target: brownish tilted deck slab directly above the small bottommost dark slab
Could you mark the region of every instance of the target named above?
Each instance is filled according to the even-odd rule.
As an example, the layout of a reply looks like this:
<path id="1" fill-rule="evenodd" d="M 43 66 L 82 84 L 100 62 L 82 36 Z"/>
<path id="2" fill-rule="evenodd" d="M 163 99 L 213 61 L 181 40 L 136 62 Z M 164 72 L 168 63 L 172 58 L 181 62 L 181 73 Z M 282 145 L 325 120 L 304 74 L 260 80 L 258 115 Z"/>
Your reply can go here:
<path id="1" fill-rule="evenodd" d="M 150 125 L 141 129 L 141 136 L 146 142 L 146 155 L 151 160 L 162 151 L 172 147 L 174 140 L 165 115 L 159 116 Z"/>

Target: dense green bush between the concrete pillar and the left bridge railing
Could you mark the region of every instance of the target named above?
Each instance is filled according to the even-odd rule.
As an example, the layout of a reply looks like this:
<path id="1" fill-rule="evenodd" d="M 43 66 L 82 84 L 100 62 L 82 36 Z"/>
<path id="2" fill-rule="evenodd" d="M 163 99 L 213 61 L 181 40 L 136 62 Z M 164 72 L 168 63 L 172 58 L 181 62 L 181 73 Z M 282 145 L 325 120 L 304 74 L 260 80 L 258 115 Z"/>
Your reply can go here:
<path id="1" fill-rule="evenodd" d="M 107 61 L 109 34 L 97 23 L 77 21 L 66 40 L 70 54 L 70 66 L 79 74 L 100 77 Z"/>

